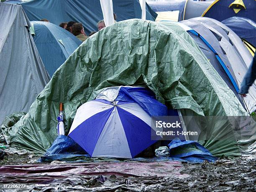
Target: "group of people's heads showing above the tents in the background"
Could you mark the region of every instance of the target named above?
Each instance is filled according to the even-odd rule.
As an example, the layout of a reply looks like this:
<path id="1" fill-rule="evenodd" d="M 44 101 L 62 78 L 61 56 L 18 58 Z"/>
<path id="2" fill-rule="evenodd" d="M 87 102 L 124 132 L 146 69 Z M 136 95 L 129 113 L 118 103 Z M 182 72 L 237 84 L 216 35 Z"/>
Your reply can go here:
<path id="1" fill-rule="evenodd" d="M 114 20 L 116 22 L 116 14 L 114 13 Z M 41 19 L 40 21 L 44 21 L 44 22 L 50 22 L 49 20 L 47 19 Z M 81 41 L 85 41 L 88 36 L 86 35 L 86 33 L 84 32 L 84 27 L 82 25 L 82 23 L 76 23 L 74 21 L 69 21 L 68 23 L 67 22 L 64 22 L 64 23 L 60 23 L 59 24 L 60 27 L 66 29 L 67 31 L 69 31 L 70 33 L 72 33 L 74 36 L 76 36 L 77 38 L 79 38 Z M 97 28 L 98 28 L 98 31 L 100 31 L 102 28 L 105 28 L 105 23 L 104 23 L 104 20 L 100 20 L 98 23 L 97 23 Z M 89 36 L 92 36 L 94 33 L 97 33 L 97 31 L 92 31 Z"/>

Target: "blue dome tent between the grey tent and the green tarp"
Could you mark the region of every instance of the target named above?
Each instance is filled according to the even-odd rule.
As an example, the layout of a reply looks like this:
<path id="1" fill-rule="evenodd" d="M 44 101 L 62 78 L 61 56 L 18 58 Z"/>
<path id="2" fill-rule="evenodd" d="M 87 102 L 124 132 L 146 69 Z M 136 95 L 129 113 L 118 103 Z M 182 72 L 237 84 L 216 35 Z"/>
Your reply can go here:
<path id="1" fill-rule="evenodd" d="M 48 22 L 31 21 L 30 31 L 50 76 L 82 44 L 82 41 L 69 31 Z"/>

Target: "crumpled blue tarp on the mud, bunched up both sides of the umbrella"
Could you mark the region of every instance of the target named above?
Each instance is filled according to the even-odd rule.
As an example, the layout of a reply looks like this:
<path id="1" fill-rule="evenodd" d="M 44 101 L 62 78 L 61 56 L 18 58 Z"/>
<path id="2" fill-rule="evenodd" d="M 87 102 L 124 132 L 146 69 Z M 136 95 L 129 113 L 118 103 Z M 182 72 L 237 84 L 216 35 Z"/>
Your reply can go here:
<path id="1" fill-rule="evenodd" d="M 39 158 L 37 162 L 46 161 L 67 161 L 67 162 L 90 162 L 90 161 L 139 161 L 139 162 L 156 162 L 156 161 L 189 161 L 193 163 L 202 163 L 203 161 L 214 162 L 218 160 L 215 156 L 194 141 L 173 140 L 169 147 L 170 157 L 152 157 L 143 158 L 136 157 L 133 159 L 116 159 L 116 158 L 91 158 L 72 138 L 60 135 L 56 138 L 51 147 L 46 151 L 44 156 Z M 187 152 L 187 153 L 184 153 Z M 178 152 L 178 153 L 177 153 Z"/>

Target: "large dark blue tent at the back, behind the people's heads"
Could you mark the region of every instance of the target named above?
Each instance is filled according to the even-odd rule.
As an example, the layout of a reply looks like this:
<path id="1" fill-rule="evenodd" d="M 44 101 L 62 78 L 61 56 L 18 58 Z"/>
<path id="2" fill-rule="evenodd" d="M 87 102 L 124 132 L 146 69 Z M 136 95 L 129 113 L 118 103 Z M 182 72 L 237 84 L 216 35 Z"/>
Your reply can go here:
<path id="1" fill-rule="evenodd" d="M 22 5 L 29 20 L 46 18 L 56 25 L 73 20 L 83 24 L 87 35 L 98 31 L 97 22 L 103 19 L 100 0 L 29 0 L 18 4 Z M 117 15 L 117 21 L 141 18 L 141 5 L 138 0 L 113 0 L 113 11 Z M 146 19 L 155 20 L 156 16 L 146 4 Z"/>

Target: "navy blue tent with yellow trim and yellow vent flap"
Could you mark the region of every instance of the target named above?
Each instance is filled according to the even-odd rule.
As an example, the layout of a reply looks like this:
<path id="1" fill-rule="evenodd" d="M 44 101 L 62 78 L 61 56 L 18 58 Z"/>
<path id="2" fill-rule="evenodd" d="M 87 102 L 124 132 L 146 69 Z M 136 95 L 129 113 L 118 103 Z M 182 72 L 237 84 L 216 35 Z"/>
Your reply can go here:
<path id="1" fill-rule="evenodd" d="M 202 14 L 219 21 L 238 16 L 256 21 L 255 0 L 215 0 Z"/>

